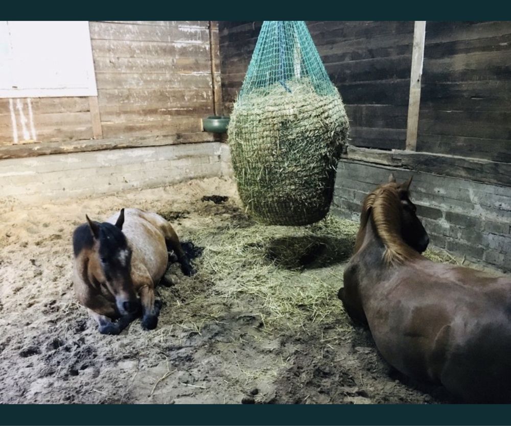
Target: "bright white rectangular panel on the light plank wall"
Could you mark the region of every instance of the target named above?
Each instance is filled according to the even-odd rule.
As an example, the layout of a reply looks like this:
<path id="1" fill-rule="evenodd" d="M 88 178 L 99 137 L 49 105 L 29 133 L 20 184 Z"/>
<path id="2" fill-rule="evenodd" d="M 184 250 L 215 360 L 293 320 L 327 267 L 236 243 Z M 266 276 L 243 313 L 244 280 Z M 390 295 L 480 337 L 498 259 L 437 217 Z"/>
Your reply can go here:
<path id="1" fill-rule="evenodd" d="M 0 21 L 0 98 L 97 95 L 87 21 Z"/>

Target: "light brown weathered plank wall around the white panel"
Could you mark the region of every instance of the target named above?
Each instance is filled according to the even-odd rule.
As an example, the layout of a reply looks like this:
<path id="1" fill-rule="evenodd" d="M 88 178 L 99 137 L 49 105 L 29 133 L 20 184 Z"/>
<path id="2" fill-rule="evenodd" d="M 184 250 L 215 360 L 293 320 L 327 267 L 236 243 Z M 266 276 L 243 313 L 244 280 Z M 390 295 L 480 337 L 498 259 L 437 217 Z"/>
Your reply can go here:
<path id="1" fill-rule="evenodd" d="M 37 143 L 175 134 L 212 139 L 201 126 L 214 102 L 209 27 L 210 21 L 90 22 L 97 100 L 0 99 L 0 145 L 13 144 L 11 106 L 21 143 L 33 142 L 34 133 Z M 212 33 L 218 36 L 215 27 Z"/>

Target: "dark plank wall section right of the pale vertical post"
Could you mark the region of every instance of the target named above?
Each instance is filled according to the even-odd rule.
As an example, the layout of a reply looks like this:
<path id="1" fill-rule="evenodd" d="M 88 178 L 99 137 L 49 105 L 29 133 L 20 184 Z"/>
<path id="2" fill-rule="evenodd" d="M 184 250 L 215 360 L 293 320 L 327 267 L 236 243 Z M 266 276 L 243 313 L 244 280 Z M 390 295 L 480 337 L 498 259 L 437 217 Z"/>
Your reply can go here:
<path id="1" fill-rule="evenodd" d="M 511 162 L 511 22 L 426 23 L 417 150 Z"/>

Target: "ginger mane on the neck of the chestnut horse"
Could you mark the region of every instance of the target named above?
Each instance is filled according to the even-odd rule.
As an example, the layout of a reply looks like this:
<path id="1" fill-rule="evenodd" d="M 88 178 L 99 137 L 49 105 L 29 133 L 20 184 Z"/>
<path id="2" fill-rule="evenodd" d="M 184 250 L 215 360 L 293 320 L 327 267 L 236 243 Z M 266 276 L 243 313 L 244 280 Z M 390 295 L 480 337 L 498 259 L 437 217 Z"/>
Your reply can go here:
<path id="1" fill-rule="evenodd" d="M 420 254 L 401 238 L 401 201 L 395 183 L 379 186 L 365 198 L 355 242 L 355 253 L 362 246 L 369 220 L 385 246 L 383 257 L 386 263 L 403 264 L 420 257 Z"/>

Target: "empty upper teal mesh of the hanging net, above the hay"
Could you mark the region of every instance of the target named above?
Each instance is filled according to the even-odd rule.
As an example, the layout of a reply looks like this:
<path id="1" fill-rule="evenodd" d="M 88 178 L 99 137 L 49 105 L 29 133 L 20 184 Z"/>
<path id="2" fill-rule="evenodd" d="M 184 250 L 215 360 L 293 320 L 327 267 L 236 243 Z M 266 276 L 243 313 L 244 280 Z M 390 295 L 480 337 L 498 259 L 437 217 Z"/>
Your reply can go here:
<path id="1" fill-rule="evenodd" d="M 239 101 L 254 90 L 262 95 L 275 83 L 291 93 L 289 82 L 295 79 L 308 79 L 318 94 L 336 92 L 304 21 L 265 21 Z"/>

